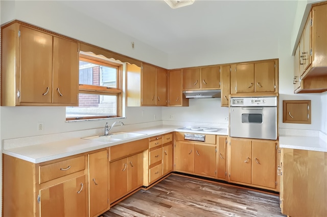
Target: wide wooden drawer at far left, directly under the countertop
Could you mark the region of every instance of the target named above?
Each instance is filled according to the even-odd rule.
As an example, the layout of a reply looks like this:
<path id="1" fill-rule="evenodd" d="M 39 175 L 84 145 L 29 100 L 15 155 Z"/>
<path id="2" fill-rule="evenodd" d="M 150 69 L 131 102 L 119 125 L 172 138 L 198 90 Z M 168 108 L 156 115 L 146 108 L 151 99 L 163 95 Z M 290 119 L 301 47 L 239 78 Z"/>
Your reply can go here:
<path id="1" fill-rule="evenodd" d="M 47 182 L 85 169 L 85 157 L 80 156 L 40 166 L 40 183 Z"/>

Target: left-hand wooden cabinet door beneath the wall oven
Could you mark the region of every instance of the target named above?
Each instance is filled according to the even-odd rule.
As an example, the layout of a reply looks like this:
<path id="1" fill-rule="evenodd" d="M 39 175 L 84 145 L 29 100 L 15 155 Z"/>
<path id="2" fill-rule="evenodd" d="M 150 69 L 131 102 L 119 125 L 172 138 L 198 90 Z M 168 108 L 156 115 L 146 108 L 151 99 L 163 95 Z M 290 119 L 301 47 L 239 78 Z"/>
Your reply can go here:
<path id="1" fill-rule="evenodd" d="M 230 139 L 230 181 L 251 184 L 251 149 L 251 140 Z"/>

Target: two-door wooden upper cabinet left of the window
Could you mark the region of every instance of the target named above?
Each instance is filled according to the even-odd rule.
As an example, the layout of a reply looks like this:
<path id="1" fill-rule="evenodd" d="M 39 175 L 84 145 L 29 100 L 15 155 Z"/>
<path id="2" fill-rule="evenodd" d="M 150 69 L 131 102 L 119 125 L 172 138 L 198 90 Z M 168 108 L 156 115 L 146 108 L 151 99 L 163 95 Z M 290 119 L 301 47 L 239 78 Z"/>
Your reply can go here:
<path id="1" fill-rule="evenodd" d="M 78 106 L 77 42 L 13 22 L 2 44 L 2 106 Z"/>

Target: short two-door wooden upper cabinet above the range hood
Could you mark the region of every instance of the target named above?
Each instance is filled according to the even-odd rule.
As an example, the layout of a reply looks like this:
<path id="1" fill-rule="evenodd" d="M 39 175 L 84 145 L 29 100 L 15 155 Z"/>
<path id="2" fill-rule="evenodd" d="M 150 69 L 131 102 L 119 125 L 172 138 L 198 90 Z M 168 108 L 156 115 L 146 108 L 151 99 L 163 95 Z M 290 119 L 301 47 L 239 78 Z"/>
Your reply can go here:
<path id="1" fill-rule="evenodd" d="M 206 66 L 183 70 L 183 90 L 220 89 L 220 67 Z"/>

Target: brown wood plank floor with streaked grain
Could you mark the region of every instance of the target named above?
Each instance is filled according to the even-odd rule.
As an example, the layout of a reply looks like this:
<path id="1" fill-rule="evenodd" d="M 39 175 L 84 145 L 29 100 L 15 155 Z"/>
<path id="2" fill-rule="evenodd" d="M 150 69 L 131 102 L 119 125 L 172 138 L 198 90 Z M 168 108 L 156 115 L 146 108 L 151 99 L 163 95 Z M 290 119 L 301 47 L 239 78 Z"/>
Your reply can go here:
<path id="1" fill-rule="evenodd" d="M 285 216 L 279 198 L 249 189 L 171 175 L 111 207 L 102 216 Z"/>

